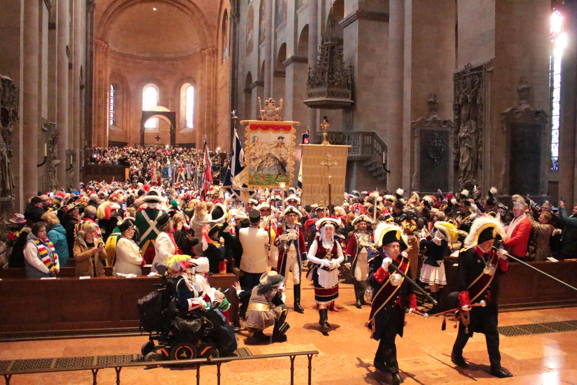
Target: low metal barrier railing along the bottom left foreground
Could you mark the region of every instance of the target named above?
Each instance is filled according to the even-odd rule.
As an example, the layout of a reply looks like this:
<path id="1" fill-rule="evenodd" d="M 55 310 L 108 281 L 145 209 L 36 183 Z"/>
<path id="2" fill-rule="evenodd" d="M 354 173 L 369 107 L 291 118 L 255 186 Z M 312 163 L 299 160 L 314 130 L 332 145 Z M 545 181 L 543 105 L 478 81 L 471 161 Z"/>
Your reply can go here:
<path id="1" fill-rule="evenodd" d="M 193 360 L 168 360 L 168 361 L 137 361 L 137 362 L 123 362 L 123 363 L 113 363 L 113 364 L 101 364 L 101 365 L 85 365 L 81 367 L 61 367 L 61 368 L 38 368 L 38 369 L 25 369 L 25 370 L 11 370 L 12 364 L 8 365 L 6 369 L 2 370 L 0 368 L 0 375 L 4 376 L 6 385 L 10 385 L 10 379 L 13 375 L 20 374 L 32 374 L 32 373 L 54 373 L 54 372 L 73 372 L 81 370 L 89 370 L 92 372 L 92 384 L 96 385 L 96 376 L 100 369 L 114 368 L 116 371 L 116 383 L 120 385 L 120 373 L 122 368 L 127 367 L 155 367 L 155 366 L 182 366 L 182 365 L 196 365 L 196 384 L 200 385 L 200 367 L 204 365 L 216 365 L 216 379 L 217 383 L 220 385 L 220 365 L 231 361 L 242 361 L 242 360 L 258 360 L 260 358 L 276 358 L 276 357 L 289 357 L 290 358 L 290 383 L 294 384 L 294 360 L 297 356 L 307 356 L 309 360 L 308 366 L 308 384 L 311 383 L 312 376 L 312 361 L 313 356 L 319 354 L 318 350 L 310 350 L 308 352 L 293 352 L 293 353 L 275 353 L 275 354 L 259 354 L 256 356 L 242 356 L 242 357 L 219 357 L 219 358 L 194 358 Z M 74 358 L 74 357 L 68 357 Z"/>

